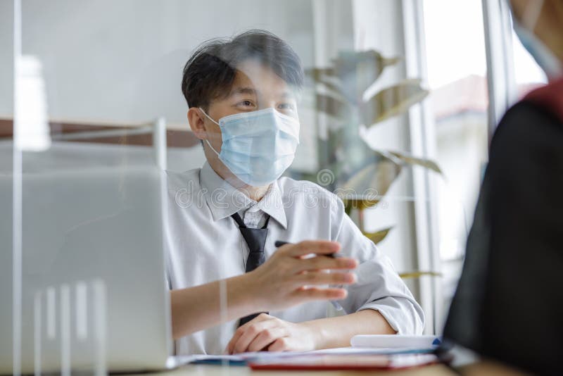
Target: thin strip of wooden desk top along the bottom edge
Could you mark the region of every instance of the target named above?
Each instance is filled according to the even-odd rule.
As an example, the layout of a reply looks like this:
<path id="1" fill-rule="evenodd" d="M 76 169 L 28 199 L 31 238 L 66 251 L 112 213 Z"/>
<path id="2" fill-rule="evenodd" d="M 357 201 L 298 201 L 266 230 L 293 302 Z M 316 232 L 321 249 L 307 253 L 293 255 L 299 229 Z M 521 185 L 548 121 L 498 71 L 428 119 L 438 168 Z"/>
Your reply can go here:
<path id="1" fill-rule="evenodd" d="M 393 375 L 393 376 L 450 376 L 456 375 L 444 365 L 427 365 L 419 368 L 409 368 L 407 370 L 388 370 L 388 371 L 253 371 L 248 367 L 226 367 L 220 365 L 184 365 L 176 370 L 144 373 L 140 376 L 246 376 L 246 375 L 267 375 L 267 376 L 302 376 L 302 375 Z"/>

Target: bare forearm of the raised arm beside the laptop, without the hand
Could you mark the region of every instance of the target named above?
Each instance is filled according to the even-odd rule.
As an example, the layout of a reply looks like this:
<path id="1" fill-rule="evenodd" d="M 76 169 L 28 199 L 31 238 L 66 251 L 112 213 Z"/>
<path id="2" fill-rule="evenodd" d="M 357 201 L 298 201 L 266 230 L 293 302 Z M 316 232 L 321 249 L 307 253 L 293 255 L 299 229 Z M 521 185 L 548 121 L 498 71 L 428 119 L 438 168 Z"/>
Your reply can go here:
<path id="1" fill-rule="evenodd" d="M 222 317 L 220 306 L 220 283 L 227 287 L 227 311 Z M 201 284 L 187 289 L 170 292 L 172 307 L 172 337 L 179 339 L 188 334 L 198 332 L 241 318 L 253 312 L 252 295 L 244 275 L 228 278 L 223 281 Z"/>

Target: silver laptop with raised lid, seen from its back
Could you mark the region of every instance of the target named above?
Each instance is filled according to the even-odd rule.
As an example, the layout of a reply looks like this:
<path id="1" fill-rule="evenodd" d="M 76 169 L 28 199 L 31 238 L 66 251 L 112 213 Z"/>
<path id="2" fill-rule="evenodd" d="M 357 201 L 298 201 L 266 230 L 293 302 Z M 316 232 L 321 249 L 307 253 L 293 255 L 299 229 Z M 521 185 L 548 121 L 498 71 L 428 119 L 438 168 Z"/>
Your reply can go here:
<path id="1" fill-rule="evenodd" d="M 162 179 L 139 167 L 23 176 L 21 372 L 173 365 Z M 0 175 L 1 374 L 13 370 L 18 323 L 12 184 Z"/>

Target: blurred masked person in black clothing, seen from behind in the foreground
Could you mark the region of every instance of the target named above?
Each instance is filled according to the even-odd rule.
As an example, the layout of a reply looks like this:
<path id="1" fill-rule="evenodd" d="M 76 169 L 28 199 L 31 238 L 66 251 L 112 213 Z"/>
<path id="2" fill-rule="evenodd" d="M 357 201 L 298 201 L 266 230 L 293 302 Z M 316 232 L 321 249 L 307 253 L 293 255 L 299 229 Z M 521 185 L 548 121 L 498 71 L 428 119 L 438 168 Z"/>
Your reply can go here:
<path id="1" fill-rule="evenodd" d="M 495 131 L 444 337 L 485 358 L 562 375 L 563 0 L 510 3 L 514 30 L 550 82 Z M 476 375 L 502 370 L 481 365 Z"/>

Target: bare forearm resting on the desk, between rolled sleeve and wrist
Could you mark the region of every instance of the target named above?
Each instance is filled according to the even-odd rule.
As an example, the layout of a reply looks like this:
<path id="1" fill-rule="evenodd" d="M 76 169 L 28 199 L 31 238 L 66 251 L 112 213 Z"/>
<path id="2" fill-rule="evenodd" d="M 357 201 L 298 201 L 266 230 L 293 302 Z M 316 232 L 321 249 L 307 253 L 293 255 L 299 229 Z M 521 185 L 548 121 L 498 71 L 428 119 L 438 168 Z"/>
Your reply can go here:
<path id="1" fill-rule="evenodd" d="M 379 311 L 362 310 L 335 318 L 303 322 L 315 335 L 317 349 L 350 346 L 356 334 L 396 334 Z"/>

